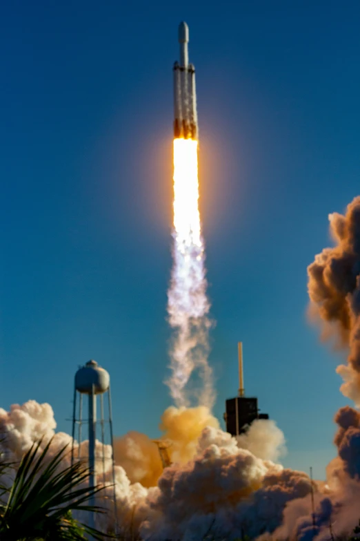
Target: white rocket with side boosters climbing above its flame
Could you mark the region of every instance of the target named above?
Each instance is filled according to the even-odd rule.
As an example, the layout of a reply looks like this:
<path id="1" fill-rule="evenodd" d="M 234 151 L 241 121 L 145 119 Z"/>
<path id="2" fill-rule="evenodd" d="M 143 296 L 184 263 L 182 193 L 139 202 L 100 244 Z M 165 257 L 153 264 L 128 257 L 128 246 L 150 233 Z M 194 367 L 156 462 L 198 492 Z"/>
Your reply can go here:
<path id="1" fill-rule="evenodd" d="M 179 24 L 180 62 L 174 64 L 174 137 L 197 139 L 195 68 L 189 64 L 189 27 Z"/>

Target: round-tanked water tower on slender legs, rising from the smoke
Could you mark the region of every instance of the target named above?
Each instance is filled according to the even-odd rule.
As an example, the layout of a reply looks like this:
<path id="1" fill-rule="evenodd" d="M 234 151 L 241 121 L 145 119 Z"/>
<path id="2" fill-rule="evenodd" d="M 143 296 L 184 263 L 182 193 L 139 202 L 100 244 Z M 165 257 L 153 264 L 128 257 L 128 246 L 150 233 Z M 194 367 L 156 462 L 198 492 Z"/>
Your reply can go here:
<path id="1" fill-rule="evenodd" d="M 83 417 L 83 397 L 88 397 L 88 415 Z M 107 395 L 107 404 L 104 404 L 104 396 Z M 98 400 L 99 397 L 99 400 Z M 97 405 L 100 404 L 99 418 L 97 415 Z M 105 407 L 104 407 L 105 406 Z M 82 428 L 83 424 L 88 425 L 88 451 L 86 456 L 81 453 Z M 76 430 L 77 428 L 77 430 Z M 77 432 L 77 434 L 76 434 Z M 78 448 L 75 452 L 74 442 L 77 439 Z M 101 442 L 102 445 L 96 445 L 96 442 Z M 106 483 L 106 477 L 108 479 L 108 457 L 105 455 L 106 444 L 111 446 L 111 482 L 114 487 L 114 521 L 117 525 L 117 501 L 115 493 L 115 472 L 114 472 L 114 441 L 112 435 L 112 410 L 111 410 L 111 394 L 110 394 L 110 376 L 106 370 L 101 368 L 96 361 L 88 361 L 85 366 L 79 368 L 75 374 L 74 385 L 74 408 L 72 414 L 72 450 L 71 450 L 71 463 L 74 460 L 88 461 L 90 477 L 89 486 L 94 487 L 102 483 Z M 102 480 L 101 475 L 97 475 L 97 471 L 101 471 L 102 466 Z M 97 479 L 97 477 L 99 477 Z M 94 496 L 89 500 L 90 505 L 94 505 Z M 94 513 L 91 514 L 90 526 L 94 527 Z M 117 527 L 115 528 L 117 531 Z"/>

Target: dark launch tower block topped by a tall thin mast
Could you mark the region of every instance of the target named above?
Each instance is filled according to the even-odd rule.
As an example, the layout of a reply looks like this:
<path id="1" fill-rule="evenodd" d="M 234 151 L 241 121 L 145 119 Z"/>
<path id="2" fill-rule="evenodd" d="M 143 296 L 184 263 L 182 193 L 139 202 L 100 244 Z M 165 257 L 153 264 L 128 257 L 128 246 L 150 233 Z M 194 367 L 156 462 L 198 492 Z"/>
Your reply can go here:
<path id="1" fill-rule="evenodd" d="M 239 351 L 239 395 L 226 400 L 226 412 L 223 418 L 226 422 L 226 431 L 232 436 L 239 436 L 246 432 L 255 419 L 268 419 L 267 413 L 260 413 L 257 398 L 246 397 L 243 388 L 243 343 L 238 344 Z"/>

